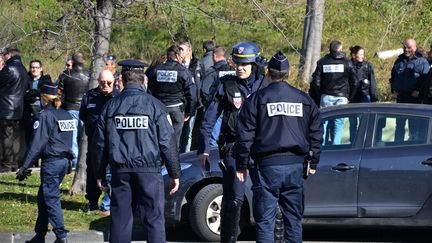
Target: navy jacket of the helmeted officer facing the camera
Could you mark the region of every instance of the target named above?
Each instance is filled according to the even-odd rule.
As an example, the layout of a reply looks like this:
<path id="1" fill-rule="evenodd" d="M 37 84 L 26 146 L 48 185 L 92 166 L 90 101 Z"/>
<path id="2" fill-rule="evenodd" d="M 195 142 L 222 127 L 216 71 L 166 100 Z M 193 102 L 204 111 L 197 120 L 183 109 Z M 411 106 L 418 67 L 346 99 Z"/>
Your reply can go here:
<path id="1" fill-rule="evenodd" d="M 255 71 L 246 80 L 237 76 L 226 75 L 216 91 L 212 102 L 207 108 L 200 128 L 200 141 L 198 154 L 209 153 L 209 140 L 214 124 L 223 112 L 221 135 L 219 144 L 228 144 L 235 141 L 238 111 L 249 95 L 267 86 L 267 80 L 258 71 Z"/>

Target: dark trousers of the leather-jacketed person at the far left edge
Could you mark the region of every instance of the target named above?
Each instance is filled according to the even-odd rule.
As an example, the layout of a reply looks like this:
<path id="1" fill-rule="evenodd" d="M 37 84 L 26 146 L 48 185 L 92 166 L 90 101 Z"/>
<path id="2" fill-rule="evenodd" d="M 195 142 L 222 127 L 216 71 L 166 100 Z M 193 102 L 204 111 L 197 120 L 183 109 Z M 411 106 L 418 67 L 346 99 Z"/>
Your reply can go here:
<path id="1" fill-rule="evenodd" d="M 25 130 L 20 121 L 0 120 L 0 172 L 15 171 L 24 159 Z"/>

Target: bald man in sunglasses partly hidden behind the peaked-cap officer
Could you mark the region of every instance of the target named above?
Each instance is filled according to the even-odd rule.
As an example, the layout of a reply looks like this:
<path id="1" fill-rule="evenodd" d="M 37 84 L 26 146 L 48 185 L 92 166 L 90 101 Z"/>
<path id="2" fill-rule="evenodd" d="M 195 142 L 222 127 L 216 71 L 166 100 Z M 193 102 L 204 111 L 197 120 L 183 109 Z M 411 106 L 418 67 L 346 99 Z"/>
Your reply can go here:
<path id="1" fill-rule="evenodd" d="M 80 119 L 84 122 L 85 133 L 88 136 L 87 146 L 87 184 L 86 184 L 86 198 L 89 202 L 89 212 L 98 212 L 100 209 L 103 215 L 110 214 L 109 196 L 105 195 L 102 203 L 98 205 L 101 190 L 96 184 L 96 177 L 94 173 L 93 163 L 89 156 L 91 151 L 90 145 L 93 139 L 94 131 L 96 130 L 97 119 L 102 107 L 112 97 L 118 94 L 114 89 L 114 75 L 109 70 L 103 70 L 98 78 L 99 86 L 89 90 L 83 97 L 80 109 Z M 107 173 L 107 179 L 110 178 L 110 173 Z"/>

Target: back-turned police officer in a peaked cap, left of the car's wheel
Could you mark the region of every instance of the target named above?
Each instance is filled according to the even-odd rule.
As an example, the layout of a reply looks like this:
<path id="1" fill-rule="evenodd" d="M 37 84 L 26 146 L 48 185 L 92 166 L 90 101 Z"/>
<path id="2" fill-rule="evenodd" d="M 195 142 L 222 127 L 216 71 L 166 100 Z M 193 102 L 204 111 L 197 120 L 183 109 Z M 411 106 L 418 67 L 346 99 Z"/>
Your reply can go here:
<path id="1" fill-rule="evenodd" d="M 170 194 L 179 186 L 180 165 L 174 130 L 166 107 L 146 91 L 145 64 L 123 60 L 125 88 L 102 109 L 92 141 L 93 162 L 101 190 L 111 167 L 110 242 L 131 242 L 132 206 L 137 205 L 147 242 L 165 242 L 163 163 L 171 179 Z"/>

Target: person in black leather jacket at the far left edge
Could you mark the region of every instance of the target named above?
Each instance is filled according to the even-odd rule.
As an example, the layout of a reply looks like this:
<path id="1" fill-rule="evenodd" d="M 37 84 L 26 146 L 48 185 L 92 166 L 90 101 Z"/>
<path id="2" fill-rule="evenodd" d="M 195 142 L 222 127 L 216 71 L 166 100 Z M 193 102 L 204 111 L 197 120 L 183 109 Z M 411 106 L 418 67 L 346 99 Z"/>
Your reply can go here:
<path id="1" fill-rule="evenodd" d="M 8 48 L 5 57 L 6 66 L 0 71 L 0 171 L 11 171 L 26 149 L 21 120 L 30 77 L 18 49 Z"/>

